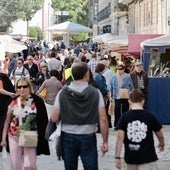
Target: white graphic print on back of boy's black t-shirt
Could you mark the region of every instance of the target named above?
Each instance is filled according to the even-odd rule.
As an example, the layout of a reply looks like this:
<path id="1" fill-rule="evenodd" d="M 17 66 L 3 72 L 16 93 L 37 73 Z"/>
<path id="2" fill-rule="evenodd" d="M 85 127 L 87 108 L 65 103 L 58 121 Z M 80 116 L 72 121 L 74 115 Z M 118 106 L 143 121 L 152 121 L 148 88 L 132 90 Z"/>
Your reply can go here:
<path id="1" fill-rule="evenodd" d="M 128 123 L 127 126 L 127 137 L 132 142 L 140 143 L 143 139 L 146 138 L 146 132 L 148 128 L 145 123 L 140 122 L 139 120 Z M 139 150 L 140 145 L 129 144 L 130 150 Z"/>

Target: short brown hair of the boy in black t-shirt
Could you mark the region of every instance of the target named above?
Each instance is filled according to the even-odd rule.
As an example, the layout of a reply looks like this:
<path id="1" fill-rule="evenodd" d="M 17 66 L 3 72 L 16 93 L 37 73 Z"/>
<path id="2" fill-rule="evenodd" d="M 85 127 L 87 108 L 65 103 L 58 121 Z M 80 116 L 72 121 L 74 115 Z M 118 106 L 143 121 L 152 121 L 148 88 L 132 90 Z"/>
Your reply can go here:
<path id="1" fill-rule="evenodd" d="M 144 95 L 141 90 L 134 89 L 129 95 L 129 100 L 132 103 L 140 103 L 144 100 Z"/>

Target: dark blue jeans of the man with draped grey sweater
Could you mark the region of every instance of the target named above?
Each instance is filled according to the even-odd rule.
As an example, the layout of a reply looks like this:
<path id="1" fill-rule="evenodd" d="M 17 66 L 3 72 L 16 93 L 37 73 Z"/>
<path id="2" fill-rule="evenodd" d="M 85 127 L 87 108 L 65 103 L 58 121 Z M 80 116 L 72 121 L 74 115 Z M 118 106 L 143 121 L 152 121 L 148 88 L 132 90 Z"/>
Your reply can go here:
<path id="1" fill-rule="evenodd" d="M 80 156 L 84 170 L 98 170 L 96 134 L 75 135 L 63 132 L 65 170 L 78 169 Z"/>

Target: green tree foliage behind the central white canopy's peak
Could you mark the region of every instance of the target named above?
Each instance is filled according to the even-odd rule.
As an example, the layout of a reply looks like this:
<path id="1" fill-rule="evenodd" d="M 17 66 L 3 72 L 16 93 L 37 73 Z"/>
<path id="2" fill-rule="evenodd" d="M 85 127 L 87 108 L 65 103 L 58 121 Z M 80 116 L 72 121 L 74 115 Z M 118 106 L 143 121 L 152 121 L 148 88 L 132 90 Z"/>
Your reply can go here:
<path id="1" fill-rule="evenodd" d="M 68 20 L 88 26 L 88 0 L 52 0 L 55 11 L 68 11 Z"/>

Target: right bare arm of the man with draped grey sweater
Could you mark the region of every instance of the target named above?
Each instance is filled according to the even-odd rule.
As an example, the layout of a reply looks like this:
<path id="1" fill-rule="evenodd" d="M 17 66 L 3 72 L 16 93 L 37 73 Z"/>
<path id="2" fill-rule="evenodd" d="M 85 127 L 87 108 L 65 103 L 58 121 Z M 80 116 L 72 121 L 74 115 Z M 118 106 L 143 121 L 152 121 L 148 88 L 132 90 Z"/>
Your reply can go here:
<path id="1" fill-rule="evenodd" d="M 99 108 L 99 125 L 100 125 L 101 135 L 103 138 L 101 151 L 104 155 L 106 152 L 108 152 L 108 134 L 109 134 L 108 119 L 107 119 L 105 107 Z"/>

